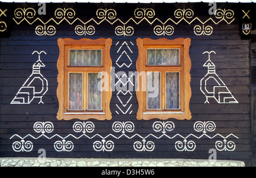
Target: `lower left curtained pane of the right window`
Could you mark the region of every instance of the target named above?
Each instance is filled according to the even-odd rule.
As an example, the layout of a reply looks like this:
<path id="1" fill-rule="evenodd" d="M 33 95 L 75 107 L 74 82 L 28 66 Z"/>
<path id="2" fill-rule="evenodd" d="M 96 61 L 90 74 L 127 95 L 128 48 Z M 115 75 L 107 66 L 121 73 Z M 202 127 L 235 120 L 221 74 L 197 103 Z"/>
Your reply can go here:
<path id="1" fill-rule="evenodd" d="M 159 72 L 147 73 L 147 109 L 160 109 L 160 83 Z"/>

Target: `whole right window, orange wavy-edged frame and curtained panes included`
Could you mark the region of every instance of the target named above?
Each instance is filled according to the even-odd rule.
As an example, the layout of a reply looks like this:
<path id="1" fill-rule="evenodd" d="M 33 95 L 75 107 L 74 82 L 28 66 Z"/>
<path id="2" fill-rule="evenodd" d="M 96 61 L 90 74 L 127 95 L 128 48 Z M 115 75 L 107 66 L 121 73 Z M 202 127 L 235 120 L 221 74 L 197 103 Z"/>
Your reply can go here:
<path id="1" fill-rule="evenodd" d="M 190 39 L 137 39 L 138 120 L 191 119 Z"/>

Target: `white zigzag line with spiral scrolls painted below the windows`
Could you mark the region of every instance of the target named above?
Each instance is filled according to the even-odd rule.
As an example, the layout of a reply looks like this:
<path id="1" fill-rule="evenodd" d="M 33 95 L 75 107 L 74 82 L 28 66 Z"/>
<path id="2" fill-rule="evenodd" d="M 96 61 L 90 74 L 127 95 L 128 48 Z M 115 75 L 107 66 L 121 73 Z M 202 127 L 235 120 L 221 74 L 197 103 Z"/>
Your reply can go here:
<path id="1" fill-rule="evenodd" d="M 51 137 L 48 137 L 46 133 L 51 133 L 53 131 L 53 124 L 52 122 L 35 122 L 34 124 L 34 130 L 36 133 L 42 133 L 39 136 L 34 137 L 31 134 L 27 134 L 25 137 L 21 137 L 18 134 L 14 134 L 10 139 L 17 139 L 19 138 L 21 141 L 15 141 L 13 143 L 13 150 L 15 152 L 25 151 L 30 152 L 33 149 L 33 143 L 31 141 L 25 141 L 25 139 L 61 139 L 61 141 L 56 141 L 53 144 L 53 147 L 58 152 L 63 151 L 72 151 L 75 147 L 73 142 L 67 141 L 67 139 L 95 139 L 96 137 L 100 137 L 100 141 L 95 141 L 92 145 L 93 149 L 97 152 L 104 152 L 104 151 L 113 151 L 114 150 L 114 142 L 113 139 L 142 139 L 142 141 L 136 141 L 133 144 L 133 149 L 135 151 L 141 152 L 141 151 L 154 151 L 155 145 L 154 142 L 150 141 L 150 139 L 165 139 L 165 141 L 168 140 L 176 140 L 181 139 L 175 142 L 175 149 L 177 151 L 195 151 L 196 150 L 196 140 L 197 139 L 217 139 L 217 141 L 214 144 L 215 149 L 218 151 L 234 151 L 236 150 L 236 143 L 233 141 L 228 141 L 228 138 L 234 140 L 239 139 L 234 134 L 229 134 L 226 137 L 221 134 L 210 134 L 208 135 L 207 132 L 214 132 L 216 130 L 216 124 L 213 121 L 197 121 L 194 124 L 194 130 L 198 134 L 186 134 L 186 136 L 183 136 L 179 133 L 173 133 L 171 132 L 175 129 L 175 125 L 171 121 L 156 121 L 152 125 L 152 129 L 156 132 L 150 133 L 147 135 L 142 136 L 141 134 L 132 134 L 135 131 L 135 125 L 131 121 L 127 122 L 114 122 L 112 129 L 117 135 L 114 134 L 108 134 L 108 135 L 101 135 L 101 134 L 93 134 L 94 132 L 94 124 L 93 122 L 87 121 L 87 122 L 75 122 L 73 124 L 73 130 L 75 133 L 81 133 L 80 135 L 77 134 L 68 134 L 67 136 L 63 137 L 59 134 L 54 134 Z M 159 133 L 162 132 L 162 133 Z M 89 134 L 88 134 L 89 133 Z M 128 134 L 126 134 L 128 133 Z M 107 140 L 108 139 L 108 140 Z M 220 140 L 218 140 L 220 139 Z M 170 144 L 171 146 L 173 144 Z M 167 145 L 168 147 L 168 145 Z"/>

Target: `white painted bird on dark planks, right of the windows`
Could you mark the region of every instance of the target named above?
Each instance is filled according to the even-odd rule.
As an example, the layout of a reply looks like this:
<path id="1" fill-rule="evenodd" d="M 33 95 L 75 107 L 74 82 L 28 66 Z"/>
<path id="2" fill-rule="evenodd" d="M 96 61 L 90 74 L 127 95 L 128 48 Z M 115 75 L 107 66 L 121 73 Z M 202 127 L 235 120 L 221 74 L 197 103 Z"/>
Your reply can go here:
<path id="1" fill-rule="evenodd" d="M 200 81 L 200 90 L 206 97 L 205 103 L 209 103 L 209 98 L 214 98 L 218 103 L 238 103 L 226 84 L 216 74 L 215 65 L 210 60 L 210 54 L 216 53 L 211 51 L 203 54 L 205 53 L 208 53 L 209 59 L 203 66 L 208 67 L 208 73 Z"/>

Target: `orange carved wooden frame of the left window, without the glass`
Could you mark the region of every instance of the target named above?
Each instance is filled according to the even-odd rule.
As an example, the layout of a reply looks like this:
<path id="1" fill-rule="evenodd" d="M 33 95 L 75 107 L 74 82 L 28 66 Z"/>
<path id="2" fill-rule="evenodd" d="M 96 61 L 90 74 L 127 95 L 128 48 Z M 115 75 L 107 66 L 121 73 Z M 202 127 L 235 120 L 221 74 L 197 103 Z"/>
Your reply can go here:
<path id="1" fill-rule="evenodd" d="M 110 48 L 112 46 L 112 39 L 58 39 L 58 45 L 60 50 L 59 59 L 57 61 L 57 70 L 59 74 L 57 76 L 57 98 L 59 100 L 59 111 L 57 112 L 58 120 L 88 120 L 89 118 L 95 118 L 97 120 L 111 120 L 112 113 L 110 111 L 110 100 L 112 98 L 111 89 L 111 75 L 112 60 L 110 58 Z M 69 61 L 69 49 L 101 49 L 102 50 L 102 66 L 68 66 Z M 69 73 L 83 73 L 83 93 L 86 95 L 86 82 L 88 73 L 104 72 L 109 75 L 108 78 L 102 79 L 104 82 L 104 91 L 102 91 L 102 111 L 68 111 L 68 75 Z M 85 76 L 86 74 L 86 76 Z M 106 86 L 105 86 L 106 85 Z M 86 97 L 83 96 L 85 107 Z"/>

